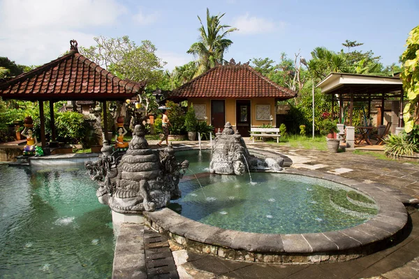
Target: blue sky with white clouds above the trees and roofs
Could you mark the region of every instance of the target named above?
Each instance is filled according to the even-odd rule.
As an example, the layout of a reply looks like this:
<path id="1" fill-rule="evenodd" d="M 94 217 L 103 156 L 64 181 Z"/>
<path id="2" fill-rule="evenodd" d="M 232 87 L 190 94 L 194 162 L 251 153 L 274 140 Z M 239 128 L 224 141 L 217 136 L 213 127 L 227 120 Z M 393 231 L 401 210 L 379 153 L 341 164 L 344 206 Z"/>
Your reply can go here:
<path id="1" fill-rule="evenodd" d="M 193 60 L 186 54 L 198 40 L 197 15 L 206 8 L 240 29 L 228 38 L 225 59 L 247 62 L 255 57 L 279 61 L 324 46 L 339 51 L 346 39 L 365 43 L 387 66 L 398 63 L 409 31 L 419 24 L 419 1 L 135 1 L 135 0 L 0 0 L 0 56 L 16 63 L 40 65 L 69 49 L 69 40 L 94 44 L 93 36 L 128 35 L 135 43 L 151 40 L 157 55 L 172 70 Z"/>

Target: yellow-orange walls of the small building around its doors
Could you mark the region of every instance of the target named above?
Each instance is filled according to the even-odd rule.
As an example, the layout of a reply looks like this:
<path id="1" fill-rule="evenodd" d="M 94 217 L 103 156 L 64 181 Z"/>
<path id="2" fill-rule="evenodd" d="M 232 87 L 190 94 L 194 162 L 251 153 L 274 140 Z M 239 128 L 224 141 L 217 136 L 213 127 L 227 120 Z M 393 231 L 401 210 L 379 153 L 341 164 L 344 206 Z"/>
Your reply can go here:
<path id="1" fill-rule="evenodd" d="M 211 100 L 210 98 L 188 98 L 188 103 L 193 105 L 202 104 L 206 106 L 207 111 L 207 124 L 211 123 Z M 232 126 L 236 125 L 236 98 L 226 98 L 226 121 L 230 121 Z M 270 105 L 270 114 L 273 117 L 272 126 L 276 125 L 276 114 L 275 114 L 275 100 L 274 98 L 247 98 L 237 100 L 250 100 L 251 105 L 251 126 L 261 126 L 263 124 L 269 124 L 269 120 L 256 120 L 256 105 Z"/>

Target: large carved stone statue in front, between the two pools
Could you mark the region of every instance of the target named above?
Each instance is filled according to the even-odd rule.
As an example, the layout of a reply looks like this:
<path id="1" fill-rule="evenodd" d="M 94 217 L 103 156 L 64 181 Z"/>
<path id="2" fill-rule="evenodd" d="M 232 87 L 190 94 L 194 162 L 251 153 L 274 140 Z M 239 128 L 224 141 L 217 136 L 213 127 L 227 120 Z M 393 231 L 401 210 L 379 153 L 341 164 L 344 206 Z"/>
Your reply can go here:
<path id="1" fill-rule="evenodd" d="M 181 195 L 178 184 L 189 161 L 177 162 L 169 145 L 163 151 L 149 149 L 142 126 L 134 128 L 133 139 L 124 156 L 115 158 L 112 146 L 104 142 L 96 162 L 84 166 L 98 181 L 99 202 L 119 213 L 141 213 L 166 206 Z"/>

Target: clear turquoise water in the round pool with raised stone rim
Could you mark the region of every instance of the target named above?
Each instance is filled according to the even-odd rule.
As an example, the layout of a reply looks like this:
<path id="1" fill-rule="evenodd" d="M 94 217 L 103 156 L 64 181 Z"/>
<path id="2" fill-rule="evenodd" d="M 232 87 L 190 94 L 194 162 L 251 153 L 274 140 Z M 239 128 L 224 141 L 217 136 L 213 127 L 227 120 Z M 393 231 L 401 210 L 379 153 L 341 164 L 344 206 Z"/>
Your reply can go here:
<path id="1" fill-rule="evenodd" d="M 182 151 L 190 161 L 170 208 L 207 225 L 243 232 L 301 234 L 353 227 L 376 215 L 376 204 L 331 181 L 293 174 L 208 174 L 210 153 Z M 198 176 L 195 178 L 194 174 Z M 201 183 L 202 187 L 198 183 Z"/>

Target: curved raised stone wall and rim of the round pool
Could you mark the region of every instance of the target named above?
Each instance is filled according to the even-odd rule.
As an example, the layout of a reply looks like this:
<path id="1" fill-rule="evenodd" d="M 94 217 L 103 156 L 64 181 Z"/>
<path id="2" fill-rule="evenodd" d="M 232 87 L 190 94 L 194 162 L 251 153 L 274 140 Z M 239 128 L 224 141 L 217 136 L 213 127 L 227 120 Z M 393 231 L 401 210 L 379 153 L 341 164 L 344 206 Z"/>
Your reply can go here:
<path id="1" fill-rule="evenodd" d="M 255 152 L 261 153 L 259 150 Z M 272 153 L 272 156 L 278 155 Z M 406 225 L 404 205 L 381 191 L 378 183 L 360 183 L 318 171 L 286 168 L 283 172 L 334 181 L 358 190 L 374 199 L 378 213 L 355 227 L 307 234 L 259 234 L 221 229 L 180 216 L 167 208 L 145 212 L 145 222 L 195 252 L 247 262 L 282 264 L 341 262 L 369 255 L 382 249 Z"/>

